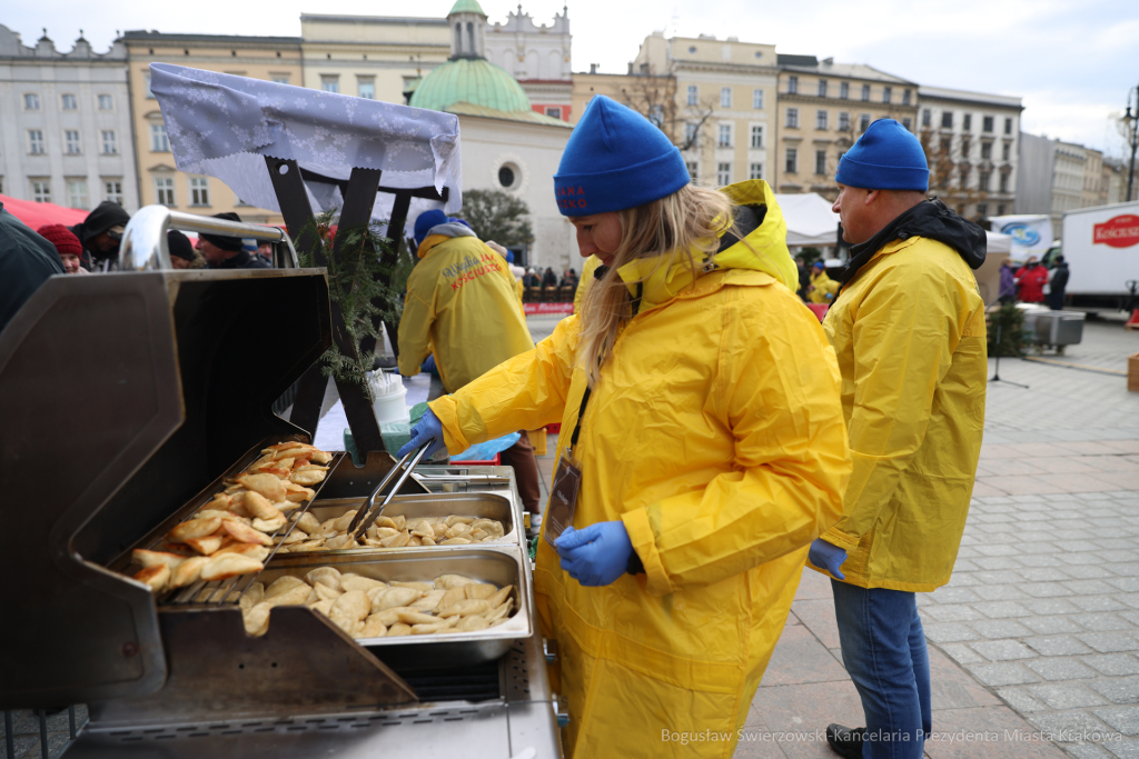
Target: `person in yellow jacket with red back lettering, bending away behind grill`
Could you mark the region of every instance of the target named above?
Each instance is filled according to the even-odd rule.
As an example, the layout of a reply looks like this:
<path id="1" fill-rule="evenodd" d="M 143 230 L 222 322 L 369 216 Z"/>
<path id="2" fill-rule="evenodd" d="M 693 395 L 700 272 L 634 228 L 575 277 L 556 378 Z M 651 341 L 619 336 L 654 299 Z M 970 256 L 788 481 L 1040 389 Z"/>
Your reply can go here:
<path id="1" fill-rule="evenodd" d="M 449 220 L 442 211 L 419 214 L 415 238 L 420 261 L 408 277 L 400 317 L 402 374 L 419 373 L 432 355 L 443 387 L 456 393 L 503 361 L 533 349 L 517 282 L 500 254 L 475 237 L 469 225 Z M 541 488 L 525 430 L 539 427 L 501 434 L 522 432 L 500 455 L 503 465 L 514 467 L 518 496 L 531 514 L 539 513 Z"/>

